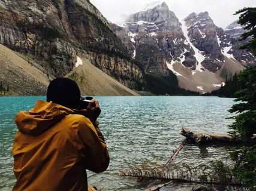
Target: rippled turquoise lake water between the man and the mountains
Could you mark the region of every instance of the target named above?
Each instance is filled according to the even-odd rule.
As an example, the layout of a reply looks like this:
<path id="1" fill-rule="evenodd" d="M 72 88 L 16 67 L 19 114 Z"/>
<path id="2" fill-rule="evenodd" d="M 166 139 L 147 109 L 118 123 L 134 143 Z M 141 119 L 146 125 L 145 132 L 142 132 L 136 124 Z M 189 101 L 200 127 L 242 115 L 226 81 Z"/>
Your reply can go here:
<path id="1" fill-rule="evenodd" d="M 142 190 L 143 183 L 118 175 L 119 169 L 143 162 L 165 164 L 182 142 L 182 127 L 194 131 L 227 133 L 227 110 L 232 98 L 218 97 L 97 97 L 102 114 L 100 128 L 110 153 L 110 166 L 102 174 L 88 172 L 89 184 L 101 190 Z M 44 97 L 0 97 L 0 190 L 15 183 L 11 149 L 16 133 L 14 116 L 31 109 Z M 225 147 L 185 146 L 175 162 L 201 164 L 227 155 Z"/>

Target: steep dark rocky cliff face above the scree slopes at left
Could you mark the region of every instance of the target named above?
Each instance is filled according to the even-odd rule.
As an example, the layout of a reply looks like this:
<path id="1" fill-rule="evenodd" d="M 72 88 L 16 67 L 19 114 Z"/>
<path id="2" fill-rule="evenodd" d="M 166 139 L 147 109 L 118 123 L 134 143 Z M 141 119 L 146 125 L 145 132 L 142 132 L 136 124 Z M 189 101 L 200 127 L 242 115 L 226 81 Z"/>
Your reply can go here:
<path id="1" fill-rule="evenodd" d="M 73 70 L 77 51 L 83 50 L 92 63 L 128 87 L 139 88 L 136 84 L 143 82 L 127 48 L 86 0 L 1 1 L 0 43 L 41 60 L 56 77 Z"/>

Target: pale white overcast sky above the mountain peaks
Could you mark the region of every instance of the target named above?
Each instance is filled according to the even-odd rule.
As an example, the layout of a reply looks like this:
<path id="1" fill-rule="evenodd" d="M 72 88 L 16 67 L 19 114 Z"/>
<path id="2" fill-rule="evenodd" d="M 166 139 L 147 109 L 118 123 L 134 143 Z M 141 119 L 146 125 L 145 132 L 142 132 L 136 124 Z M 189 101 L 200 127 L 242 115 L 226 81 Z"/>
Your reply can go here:
<path id="1" fill-rule="evenodd" d="M 121 24 L 124 15 L 137 13 L 156 0 L 91 0 L 107 20 Z M 158 1 L 158 0 L 157 0 Z M 222 28 L 238 19 L 233 14 L 243 7 L 256 7 L 256 0 L 165 0 L 171 11 L 182 20 L 190 13 L 208 11 Z"/>

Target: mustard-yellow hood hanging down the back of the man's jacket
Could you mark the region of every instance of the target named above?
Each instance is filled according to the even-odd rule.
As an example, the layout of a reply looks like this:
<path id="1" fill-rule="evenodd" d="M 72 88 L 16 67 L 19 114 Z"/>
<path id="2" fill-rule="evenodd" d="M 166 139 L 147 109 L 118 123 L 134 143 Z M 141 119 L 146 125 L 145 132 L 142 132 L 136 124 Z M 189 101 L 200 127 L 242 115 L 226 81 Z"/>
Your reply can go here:
<path id="1" fill-rule="evenodd" d="M 19 112 L 15 122 L 21 133 L 38 135 L 72 113 L 74 113 L 73 110 L 52 101 L 37 101 L 35 107 L 29 112 Z"/>

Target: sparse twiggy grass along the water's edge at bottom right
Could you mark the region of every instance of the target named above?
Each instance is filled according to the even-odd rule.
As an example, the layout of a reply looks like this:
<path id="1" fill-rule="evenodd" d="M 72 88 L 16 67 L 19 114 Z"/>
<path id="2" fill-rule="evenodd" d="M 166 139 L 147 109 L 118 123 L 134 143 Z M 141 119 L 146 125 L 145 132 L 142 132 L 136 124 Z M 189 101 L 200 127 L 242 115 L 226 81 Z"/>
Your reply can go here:
<path id="1" fill-rule="evenodd" d="M 158 164 L 144 163 L 140 166 L 129 167 L 128 170 L 119 170 L 119 175 L 139 177 L 140 180 L 172 180 L 176 183 L 209 184 L 246 190 L 231 172 L 231 167 L 224 161 L 212 161 L 210 164 L 195 167 L 185 163 L 170 164 L 167 168 Z"/>

